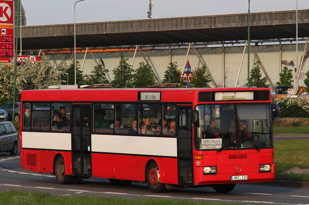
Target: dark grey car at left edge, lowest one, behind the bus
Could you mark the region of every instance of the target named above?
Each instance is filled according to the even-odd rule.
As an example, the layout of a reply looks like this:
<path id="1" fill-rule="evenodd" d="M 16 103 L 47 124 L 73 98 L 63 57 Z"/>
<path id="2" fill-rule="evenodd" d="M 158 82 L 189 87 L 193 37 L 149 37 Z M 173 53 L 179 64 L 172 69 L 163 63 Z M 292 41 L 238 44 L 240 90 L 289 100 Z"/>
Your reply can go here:
<path id="1" fill-rule="evenodd" d="M 17 154 L 18 133 L 11 122 L 0 122 L 0 152 Z"/>

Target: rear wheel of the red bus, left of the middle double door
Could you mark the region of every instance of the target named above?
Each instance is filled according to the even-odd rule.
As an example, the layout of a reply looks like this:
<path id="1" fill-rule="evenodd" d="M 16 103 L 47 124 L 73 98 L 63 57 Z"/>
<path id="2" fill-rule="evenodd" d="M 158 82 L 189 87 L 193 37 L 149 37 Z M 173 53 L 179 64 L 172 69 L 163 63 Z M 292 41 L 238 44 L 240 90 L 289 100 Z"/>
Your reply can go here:
<path id="1" fill-rule="evenodd" d="M 55 165 L 55 175 L 59 184 L 72 184 L 74 177 L 66 175 L 66 164 L 61 155 L 57 157 Z"/>

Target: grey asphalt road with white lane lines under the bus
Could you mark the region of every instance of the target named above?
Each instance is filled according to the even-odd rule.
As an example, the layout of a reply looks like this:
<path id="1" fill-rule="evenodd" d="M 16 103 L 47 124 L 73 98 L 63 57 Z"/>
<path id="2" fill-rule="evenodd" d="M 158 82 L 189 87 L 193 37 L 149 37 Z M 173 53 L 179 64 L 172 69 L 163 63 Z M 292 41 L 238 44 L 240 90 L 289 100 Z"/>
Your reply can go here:
<path id="1" fill-rule="evenodd" d="M 213 188 L 172 189 L 168 193 L 152 193 L 144 183 L 115 186 L 108 179 L 90 178 L 78 185 L 60 185 L 55 176 L 20 168 L 20 153 L 0 153 L 0 191 L 9 189 L 48 192 L 53 195 L 91 195 L 138 199 L 140 197 L 207 200 L 214 202 L 252 202 L 274 204 L 309 204 L 309 191 L 302 188 L 237 184 L 231 193 L 219 194 Z M 13 199 L 12 199 L 13 202 Z"/>

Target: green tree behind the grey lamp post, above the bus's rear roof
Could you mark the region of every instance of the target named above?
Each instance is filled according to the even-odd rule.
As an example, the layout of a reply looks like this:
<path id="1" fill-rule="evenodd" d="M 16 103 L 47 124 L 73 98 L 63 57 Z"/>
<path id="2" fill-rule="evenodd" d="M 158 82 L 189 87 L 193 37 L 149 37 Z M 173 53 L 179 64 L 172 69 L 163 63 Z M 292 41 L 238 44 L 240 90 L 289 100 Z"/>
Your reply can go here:
<path id="1" fill-rule="evenodd" d="M 75 65 L 74 61 L 70 63 L 70 65 L 67 65 L 66 63 L 64 65 L 61 65 L 59 68 L 59 71 L 61 73 L 69 73 L 69 85 L 75 85 Z M 67 77 L 64 74 L 61 74 L 61 80 L 62 80 L 62 85 L 67 85 Z M 76 84 L 77 85 L 85 85 L 85 78 L 83 71 L 80 70 L 80 65 L 79 62 L 76 61 Z"/>

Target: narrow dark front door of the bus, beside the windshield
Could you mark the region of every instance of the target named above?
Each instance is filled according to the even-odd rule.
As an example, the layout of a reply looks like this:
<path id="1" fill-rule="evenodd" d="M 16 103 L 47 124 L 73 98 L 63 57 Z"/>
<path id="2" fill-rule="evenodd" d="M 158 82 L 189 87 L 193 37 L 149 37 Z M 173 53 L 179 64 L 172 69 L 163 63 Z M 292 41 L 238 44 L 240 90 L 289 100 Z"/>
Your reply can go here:
<path id="1" fill-rule="evenodd" d="M 192 158 L 192 124 L 191 106 L 178 107 L 178 183 L 180 185 L 193 185 L 193 158 Z M 177 132 L 177 130 L 176 130 Z"/>

